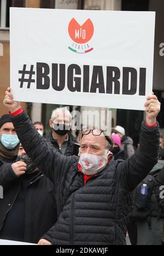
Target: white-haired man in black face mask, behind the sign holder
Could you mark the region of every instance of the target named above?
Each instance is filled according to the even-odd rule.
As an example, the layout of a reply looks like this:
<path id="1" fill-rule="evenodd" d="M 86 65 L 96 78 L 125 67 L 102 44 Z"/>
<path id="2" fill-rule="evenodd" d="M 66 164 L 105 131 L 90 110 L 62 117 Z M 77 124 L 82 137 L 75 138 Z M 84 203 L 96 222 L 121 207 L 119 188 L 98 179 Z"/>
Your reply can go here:
<path id="1" fill-rule="evenodd" d="M 60 107 L 52 111 L 49 125 L 51 132 L 48 136 L 48 144 L 65 156 L 72 156 L 75 152 L 76 139 L 70 132 L 72 115 L 67 107 Z"/>

